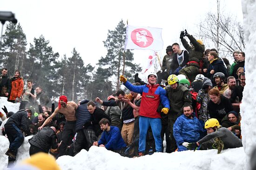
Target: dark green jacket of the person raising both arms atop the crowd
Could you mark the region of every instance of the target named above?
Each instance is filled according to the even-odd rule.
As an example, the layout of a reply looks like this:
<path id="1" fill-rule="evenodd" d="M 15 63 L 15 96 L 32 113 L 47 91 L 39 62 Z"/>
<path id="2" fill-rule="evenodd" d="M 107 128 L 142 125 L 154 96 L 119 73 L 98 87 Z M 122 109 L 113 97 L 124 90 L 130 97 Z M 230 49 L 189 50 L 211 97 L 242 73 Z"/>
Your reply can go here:
<path id="1" fill-rule="evenodd" d="M 204 45 L 199 44 L 192 35 L 187 35 L 187 37 L 189 38 L 190 43 L 192 43 L 194 45 L 194 47 L 192 48 L 192 46 L 190 46 L 188 44 L 188 42 L 186 41 L 185 38 L 181 39 L 182 45 L 189 52 L 189 62 L 195 61 L 195 62 L 199 63 L 200 60 L 203 59 Z M 191 63 L 190 65 L 195 65 L 195 64 Z M 197 66 L 197 65 L 195 65 L 195 66 Z"/>

